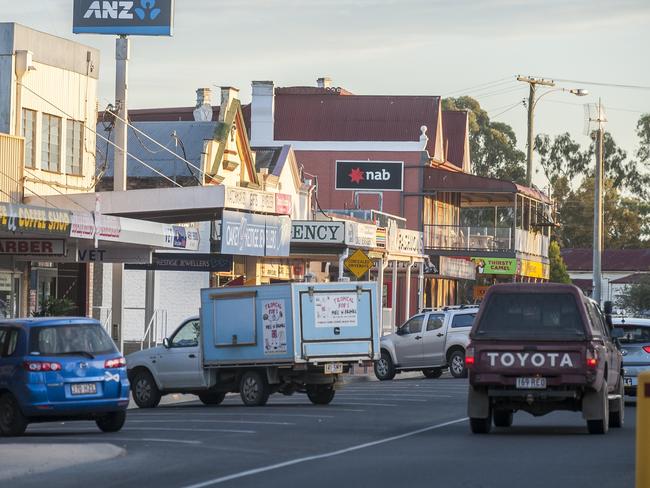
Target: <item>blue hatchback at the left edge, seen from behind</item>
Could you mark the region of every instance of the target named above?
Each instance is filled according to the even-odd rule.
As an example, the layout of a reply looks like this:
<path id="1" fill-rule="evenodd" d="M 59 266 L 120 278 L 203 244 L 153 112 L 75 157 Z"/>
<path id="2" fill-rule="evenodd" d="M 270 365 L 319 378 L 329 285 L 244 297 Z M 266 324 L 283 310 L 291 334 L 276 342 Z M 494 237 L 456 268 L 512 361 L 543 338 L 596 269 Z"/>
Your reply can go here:
<path id="1" fill-rule="evenodd" d="M 128 404 L 126 361 L 98 321 L 0 322 L 0 435 L 60 420 L 94 420 L 117 432 Z"/>

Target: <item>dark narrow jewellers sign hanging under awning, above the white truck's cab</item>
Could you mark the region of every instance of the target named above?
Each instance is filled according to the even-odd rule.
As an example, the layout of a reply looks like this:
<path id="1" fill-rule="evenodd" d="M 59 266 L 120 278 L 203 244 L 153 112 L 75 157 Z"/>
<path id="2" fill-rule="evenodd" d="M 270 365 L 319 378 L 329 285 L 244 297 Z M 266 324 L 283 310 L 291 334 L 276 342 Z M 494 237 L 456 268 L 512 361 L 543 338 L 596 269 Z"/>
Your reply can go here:
<path id="1" fill-rule="evenodd" d="M 223 254 L 196 252 L 155 252 L 151 263 L 125 264 L 125 269 L 145 269 L 153 271 L 206 271 L 213 273 L 232 270 L 233 258 Z"/>

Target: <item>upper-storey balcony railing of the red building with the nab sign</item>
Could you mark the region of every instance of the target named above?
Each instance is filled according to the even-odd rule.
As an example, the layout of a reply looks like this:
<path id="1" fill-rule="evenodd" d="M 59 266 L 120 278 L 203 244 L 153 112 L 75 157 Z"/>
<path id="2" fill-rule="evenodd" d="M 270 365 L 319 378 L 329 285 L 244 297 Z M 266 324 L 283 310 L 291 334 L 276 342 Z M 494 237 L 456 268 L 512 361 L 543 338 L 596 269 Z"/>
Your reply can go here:
<path id="1" fill-rule="evenodd" d="M 450 251 L 518 251 L 548 256 L 547 236 L 512 227 L 425 225 L 424 248 Z"/>

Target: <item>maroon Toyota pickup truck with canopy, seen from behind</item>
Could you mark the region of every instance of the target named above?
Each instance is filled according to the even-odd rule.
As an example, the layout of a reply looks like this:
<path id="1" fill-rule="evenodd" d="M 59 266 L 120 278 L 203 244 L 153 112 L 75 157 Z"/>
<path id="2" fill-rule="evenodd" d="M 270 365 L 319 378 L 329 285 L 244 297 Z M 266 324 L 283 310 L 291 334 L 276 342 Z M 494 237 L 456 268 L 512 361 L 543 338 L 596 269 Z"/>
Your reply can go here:
<path id="1" fill-rule="evenodd" d="M 622 361 L 610 331 L 609 314 L 573 285 L 492 286 L 465 358 L 472 432 L 510 427 L 519 410 L 581 411 L 592 434 L 622 427 Z"/>

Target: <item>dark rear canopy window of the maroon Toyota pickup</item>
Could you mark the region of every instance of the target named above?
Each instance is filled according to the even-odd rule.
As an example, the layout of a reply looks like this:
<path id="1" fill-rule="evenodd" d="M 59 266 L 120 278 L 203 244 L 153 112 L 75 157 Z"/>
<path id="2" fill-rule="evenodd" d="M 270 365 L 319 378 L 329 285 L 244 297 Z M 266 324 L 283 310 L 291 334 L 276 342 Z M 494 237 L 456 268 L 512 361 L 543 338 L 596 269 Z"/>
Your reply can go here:
<path id="1" fill-rule="evenodd" d="M 495 293 L 485 304 L 476 339 L 580 340 L 576 300 L 567 293 Z"/>

